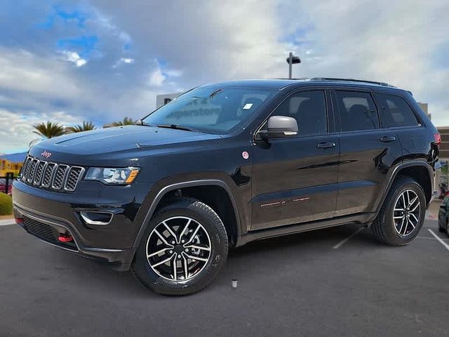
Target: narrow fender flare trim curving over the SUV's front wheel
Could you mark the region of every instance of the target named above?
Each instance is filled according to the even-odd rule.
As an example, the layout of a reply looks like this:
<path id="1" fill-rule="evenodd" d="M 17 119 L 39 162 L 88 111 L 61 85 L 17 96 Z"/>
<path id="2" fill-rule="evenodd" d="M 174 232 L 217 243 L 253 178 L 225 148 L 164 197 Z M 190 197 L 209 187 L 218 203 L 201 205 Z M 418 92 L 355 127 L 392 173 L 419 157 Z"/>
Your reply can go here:
<path id="1" fill-rule="evenodd" d="M 182 183 L 173 183 L 170 185 L 166 185 L 165 187 L 162 187 L 161 190 L 159 190 L 159 192 L 157 192 L 156 197 L 154 197 L 152 204 L 149 206 L 149 209 L 148 209 L 147 213 L 145 214 L 145 218 L 142 222 L 142 225 L 140 225 L 140 229 L 139 229 L 138 234 L 135 237 L 135 240 L 133 243 L 133 248 L 137 248 L 139 246 L 140 240 L 143 237 L 143 233 L 147 229 L 149 221 L 152 219 L 152 217 L 154 215 L 154 211 L 156 211 L 156 207 L 158 206 L 159 201 L 161 201 L 161 199 L 163 198 L 164 195 L 166 195 L 170 191 L 178 190 L 180 188 L 206 186 L 206 185 L 219 186 L 219 187 L 222 187 L 227 192 L 228 197 L 232 203 L 232 208 L 234 209 L 234 214 L 236 216 L 237 237 L 240 237 L 241 236 L 241 226 L 240 226 L 239 209 L 237 208 L 234 194 L 232 194 L 232 191 L 229 188 L 229 186 L 223 180 L 218 180 L 218 179 L 191 180 L 191 181 L 185 181 Z"/>

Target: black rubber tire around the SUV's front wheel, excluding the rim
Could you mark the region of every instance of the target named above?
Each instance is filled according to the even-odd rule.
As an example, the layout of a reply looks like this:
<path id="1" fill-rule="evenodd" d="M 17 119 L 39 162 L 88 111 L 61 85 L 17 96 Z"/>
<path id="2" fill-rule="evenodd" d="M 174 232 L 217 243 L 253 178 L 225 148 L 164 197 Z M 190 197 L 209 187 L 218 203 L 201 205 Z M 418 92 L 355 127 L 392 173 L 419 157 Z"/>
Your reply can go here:
<path id="1" fill-rule="evenodd" d="M 164 295 L 186 295 L 203 289 L 215 279 L 227 258 L 227 235 L 220 218 L 218 218 L 215 212 L 212 211 L 213 213 L 211 214 L 210 211 L 212 209 L 206 210 L 196 205 L 196 203 L 192 203 L 187 205 L 172 204 L 156 213 L 156 216 L 152 218 L 145 230 L 138 251 L 136 251 L 133 265 L 135 276 L 144 286 Z M 176 216 L 186 216 L 201 223 L 210 237 L 210 259 L 208 263 L 206 263 L 198 275 L 185 282 L 170 281 L 161 277 L 152 270 L 147 260 L 149 234 L 163 220 Z"/>

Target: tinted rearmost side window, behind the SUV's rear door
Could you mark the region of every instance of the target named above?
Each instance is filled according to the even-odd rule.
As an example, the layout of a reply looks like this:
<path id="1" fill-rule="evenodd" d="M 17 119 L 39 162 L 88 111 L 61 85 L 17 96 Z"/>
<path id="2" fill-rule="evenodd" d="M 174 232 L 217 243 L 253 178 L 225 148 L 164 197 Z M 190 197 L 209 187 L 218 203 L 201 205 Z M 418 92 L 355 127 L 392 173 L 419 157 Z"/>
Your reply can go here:
<path id="1" fill-rule="evenodd" d="M 417 126 L 420 124 L 403 98 L 387 93 L 377 93 L 377 96 L 382 105 L 382 120 L 389 121 L 390 126 Z"/>

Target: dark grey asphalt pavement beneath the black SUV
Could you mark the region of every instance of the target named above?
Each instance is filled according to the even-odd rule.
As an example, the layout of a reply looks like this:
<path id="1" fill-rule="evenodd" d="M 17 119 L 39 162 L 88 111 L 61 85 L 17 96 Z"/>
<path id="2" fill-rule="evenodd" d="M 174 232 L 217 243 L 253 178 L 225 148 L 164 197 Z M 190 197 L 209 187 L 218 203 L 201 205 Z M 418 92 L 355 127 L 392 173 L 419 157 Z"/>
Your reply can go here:
<path id="1" fill-rule="evenodd" d="M 426 220 L 406 247 L 356 225 L 252 242 L 170 298 L 2 225 L 0 336 L 449 336 L 448 239 Z"/>

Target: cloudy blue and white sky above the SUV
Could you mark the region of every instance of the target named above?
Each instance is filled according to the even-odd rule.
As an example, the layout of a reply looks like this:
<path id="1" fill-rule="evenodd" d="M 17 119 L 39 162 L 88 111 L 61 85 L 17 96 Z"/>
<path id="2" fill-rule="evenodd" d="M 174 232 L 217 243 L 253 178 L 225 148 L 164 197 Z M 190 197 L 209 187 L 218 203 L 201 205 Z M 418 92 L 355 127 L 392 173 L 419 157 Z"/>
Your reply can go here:
<path id="1" fill-rule="evenodd" d="M 33 125 L 138 119 L 227 79 L 385 81 L 449 126 L 447 0 L 0 0 L 0 153 Z"/>

